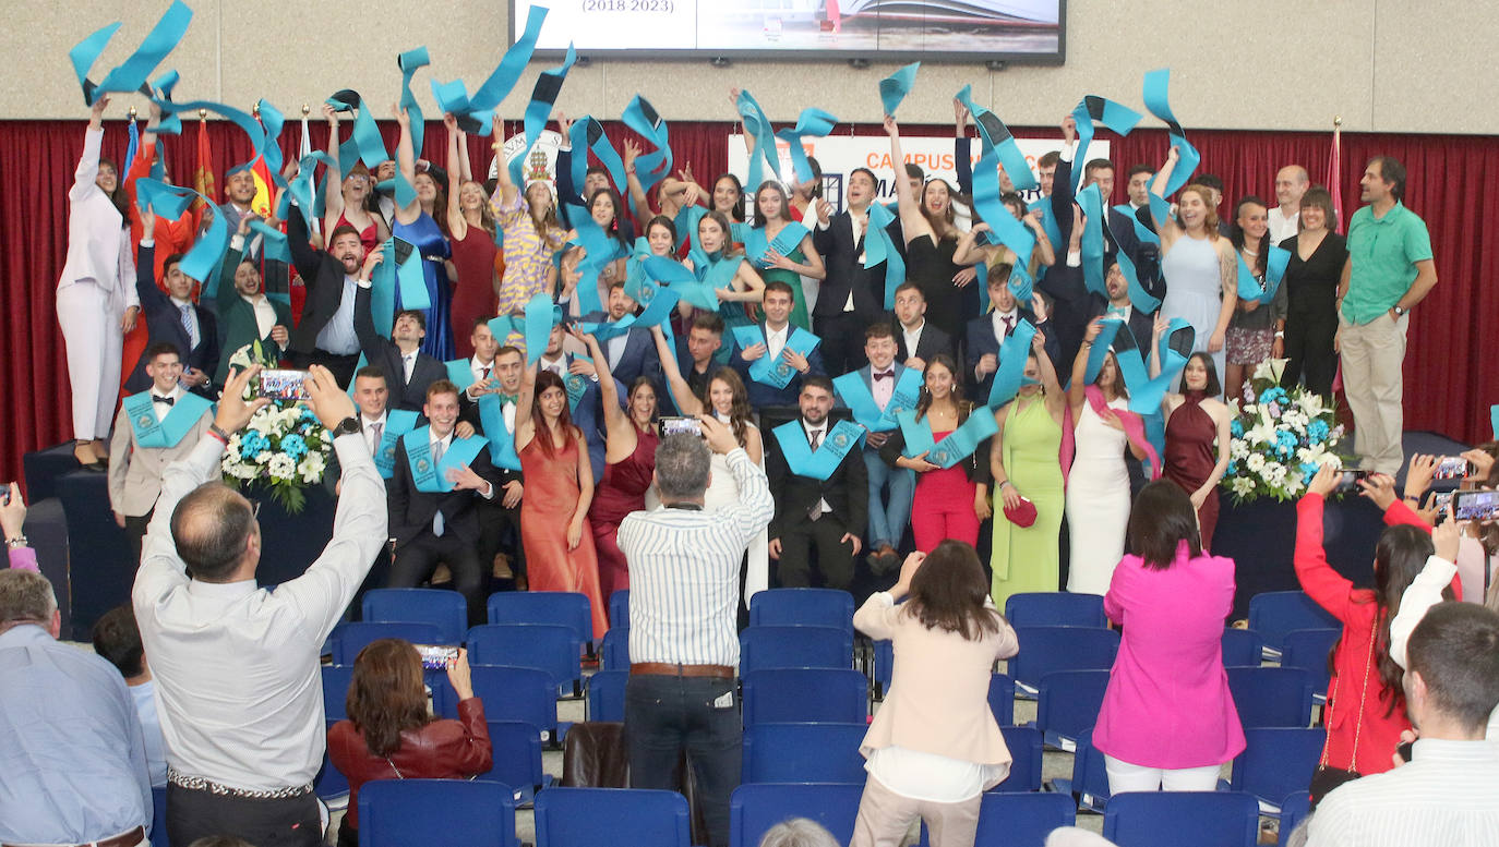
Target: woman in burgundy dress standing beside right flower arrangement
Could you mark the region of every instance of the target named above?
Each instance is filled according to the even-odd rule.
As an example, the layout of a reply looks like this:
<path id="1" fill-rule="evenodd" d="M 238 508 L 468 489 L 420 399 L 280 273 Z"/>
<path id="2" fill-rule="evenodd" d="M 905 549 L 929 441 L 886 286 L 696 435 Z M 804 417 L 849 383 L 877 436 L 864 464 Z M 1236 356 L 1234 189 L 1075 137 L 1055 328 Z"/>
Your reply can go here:
<path id="1" fill-rule="evenodd" d="M 1160 349 L 1160 335 L 1169 322 L 1156 319 L 1153 350 Z M 1160 373 L 1160 358 L 1150 358 L 1150 374 Z M 1217 527 L 1217 483 L 1228 470 L 1229 424 L 1234 412 L 1217 400 L 1219 377 L 1207 353 L 1193 353 L 1181 371 L 1181 394 L 1166 394 L 1162 410 L 1166 415 L 1166 453 L 1162 456 L 1163 476 L 1180 485 L 1198 510 L 1202 549 L 1213 545 Z M 1216 446 L 1214 446 L 1216 443 Z"/>

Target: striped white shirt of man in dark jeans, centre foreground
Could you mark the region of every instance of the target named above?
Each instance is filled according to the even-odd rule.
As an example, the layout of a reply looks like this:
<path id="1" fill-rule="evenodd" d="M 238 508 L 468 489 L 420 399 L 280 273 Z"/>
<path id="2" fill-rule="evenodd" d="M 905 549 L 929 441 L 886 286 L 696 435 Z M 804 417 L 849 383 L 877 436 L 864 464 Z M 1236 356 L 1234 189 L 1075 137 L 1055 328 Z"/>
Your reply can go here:
<path id="1" fill-rule="evenodd" d="M 630 563 L 630 658 L 739 664 L 739 563 L 770 524 L 775 500 L 744 447 L 726 456 L 739 486 L 733 509 L 654 509 L 619 524 Z"/>

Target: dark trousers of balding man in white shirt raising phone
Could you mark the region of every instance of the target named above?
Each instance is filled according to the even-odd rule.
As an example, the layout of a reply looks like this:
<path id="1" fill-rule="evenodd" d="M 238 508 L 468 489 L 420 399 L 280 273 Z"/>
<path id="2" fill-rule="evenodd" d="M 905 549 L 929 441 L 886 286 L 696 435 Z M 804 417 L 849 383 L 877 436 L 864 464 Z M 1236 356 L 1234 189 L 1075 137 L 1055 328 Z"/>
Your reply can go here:
<path id="1" fill-rule="evenodd" d="M 318 847 L 322 820 L 316 795 L 246 799 L 166 786 L 166 837 L 187 847 L 210 835 L 232 835 L 255 847 Z"/>

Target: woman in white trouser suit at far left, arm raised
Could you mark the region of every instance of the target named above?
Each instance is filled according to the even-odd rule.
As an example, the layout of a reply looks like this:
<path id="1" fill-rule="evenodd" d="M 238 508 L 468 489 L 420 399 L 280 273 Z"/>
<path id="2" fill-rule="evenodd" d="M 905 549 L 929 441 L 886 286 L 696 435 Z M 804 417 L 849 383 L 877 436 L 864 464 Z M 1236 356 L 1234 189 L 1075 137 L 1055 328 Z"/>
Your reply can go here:
<path id="1" fill-rule="evenodd" d="M 120 172 L 99 160 L 108 105 L 100 96 L 88 118 L 84 154 L 67 192 L 67 263 L 57 281 L 57 323 L 67 344 L 73 392 L 73 455 L 84 467 L 100 467 L 106 456 L 103 443 L 120 397 L 121 346 L 141 310 Z"/>

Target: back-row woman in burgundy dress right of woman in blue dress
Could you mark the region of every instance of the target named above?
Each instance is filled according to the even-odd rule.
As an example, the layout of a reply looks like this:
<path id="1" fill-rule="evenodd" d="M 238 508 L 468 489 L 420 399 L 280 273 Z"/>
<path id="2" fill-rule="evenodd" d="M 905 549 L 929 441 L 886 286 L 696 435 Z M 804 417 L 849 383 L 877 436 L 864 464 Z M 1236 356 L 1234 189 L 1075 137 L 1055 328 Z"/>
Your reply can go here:
<path id="1" fill-rule="evenodd" d="M 453 346 L 460 358 L 474 356 L 469 340 L 474 322 L 495 314 L 499 274 L 495 257 L 495 212 L 489 192 L 469 175 L 468 145 L 457 118 L 444 115 L 448 127 L 448 242 L 453 245 Z"/>

